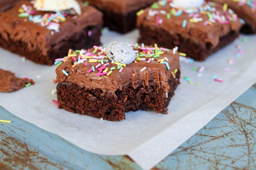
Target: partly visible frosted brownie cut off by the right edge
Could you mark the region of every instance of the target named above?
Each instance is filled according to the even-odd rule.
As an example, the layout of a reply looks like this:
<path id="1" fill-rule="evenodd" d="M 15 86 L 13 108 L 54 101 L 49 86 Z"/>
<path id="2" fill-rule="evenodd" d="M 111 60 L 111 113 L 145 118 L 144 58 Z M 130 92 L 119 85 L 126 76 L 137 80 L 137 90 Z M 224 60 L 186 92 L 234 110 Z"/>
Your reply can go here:
<path id="1" fill-rule="evenodd" d="M 208 1 L 208 0 L 206 0 Z M 244 34 L 256 33 L 256 2 L 255 0 L 211 0 L 219 4 L 227 4 L 228 8 L 234 10 L 238 17 L 244 20 L 241 32 Z"/>

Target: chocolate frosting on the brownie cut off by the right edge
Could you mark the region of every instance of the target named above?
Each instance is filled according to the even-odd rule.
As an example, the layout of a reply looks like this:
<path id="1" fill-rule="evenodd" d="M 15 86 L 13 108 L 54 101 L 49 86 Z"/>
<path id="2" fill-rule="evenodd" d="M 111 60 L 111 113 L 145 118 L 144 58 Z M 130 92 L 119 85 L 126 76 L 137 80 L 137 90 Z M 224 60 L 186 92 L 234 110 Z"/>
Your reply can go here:
<path id="1" fill-rule="evenodd" d="M 256 29 L 256 11 L 252 11 L 251 7 L 248 4 L 244 4 L 239 6 L 239 2 L 235 2 L 234 0 L 206 0 L 217 2 L 219 4 L 228 4 L 228 8 L 234 10 L 234 12 L 242 18 L 247 24 L 252 25 L 254 29 Z"/>

